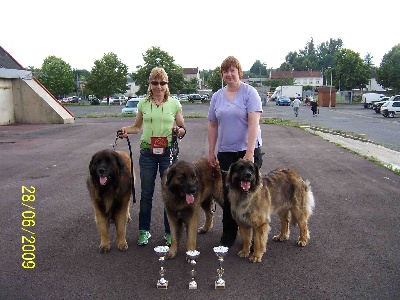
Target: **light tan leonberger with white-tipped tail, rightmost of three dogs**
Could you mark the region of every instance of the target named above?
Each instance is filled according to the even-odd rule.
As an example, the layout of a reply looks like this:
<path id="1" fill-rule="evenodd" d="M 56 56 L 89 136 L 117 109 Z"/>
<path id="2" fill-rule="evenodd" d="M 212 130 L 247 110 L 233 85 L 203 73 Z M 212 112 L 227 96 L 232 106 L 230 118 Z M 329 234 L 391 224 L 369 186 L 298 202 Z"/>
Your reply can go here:
<path id="1" fill-rule="evenodd" d="M 239 226 L 243 247 L 240 257 L 248 257 L 252 238 L 254 252 L 251 262 L 261 262 L 266 251 L 270 216 L 275 212 L 281 221 L 281 232 L 275 241 L 289 239 L 289 223 L 298 225 L 297 245 L 306 246 L 310 239 L 308 219 L 314 208 L 314 196 L 308 180 L 292 169 L 275 169 L 261 177 L 256 164 L 240 159 L 227 174 L 232 217 Z M 253 236 L 254 235 L 254 236 Z"/>

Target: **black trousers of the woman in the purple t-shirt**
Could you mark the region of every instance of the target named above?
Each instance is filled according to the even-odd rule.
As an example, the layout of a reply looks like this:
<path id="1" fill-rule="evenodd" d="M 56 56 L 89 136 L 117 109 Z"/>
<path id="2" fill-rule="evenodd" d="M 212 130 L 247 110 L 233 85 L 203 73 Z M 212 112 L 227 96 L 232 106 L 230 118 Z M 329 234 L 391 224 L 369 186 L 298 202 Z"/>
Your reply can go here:
<path id="1" fill-rule="evenodd" d="M 225 183 L 226 175 L 231 164 L 237 162 L 240 158 L 243 158 L 246 151 L 239 152 L 218 152 L 217 158 L 222 171 L 222 180 Z M 254 163 L 261 168 L 262 156 L 264 153 L 261 152 L 261 148 L 254 149 Z M 238 232 L 238 226 L 235 220 L 232 218 L 231 213 L 231 202 L 228 197 L 228 188 L 224 184 L 224 207 L 222 214 L 222 237 L 220 244 L 226 247 L 230 247 L 236 240 Z"/>

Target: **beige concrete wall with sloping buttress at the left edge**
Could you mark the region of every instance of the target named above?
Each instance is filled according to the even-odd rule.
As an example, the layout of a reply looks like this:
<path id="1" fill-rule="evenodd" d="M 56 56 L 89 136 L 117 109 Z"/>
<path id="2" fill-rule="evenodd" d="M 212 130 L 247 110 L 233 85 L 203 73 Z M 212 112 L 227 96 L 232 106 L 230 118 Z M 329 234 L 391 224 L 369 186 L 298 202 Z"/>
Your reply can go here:
<path id="1" fill-rule="evenodd" d="M 6 92 L 0 89 L 1 125 L 74 123 L 73 115 L 34 79 L 0 79 L 1 82 L 12 86 Z"/>

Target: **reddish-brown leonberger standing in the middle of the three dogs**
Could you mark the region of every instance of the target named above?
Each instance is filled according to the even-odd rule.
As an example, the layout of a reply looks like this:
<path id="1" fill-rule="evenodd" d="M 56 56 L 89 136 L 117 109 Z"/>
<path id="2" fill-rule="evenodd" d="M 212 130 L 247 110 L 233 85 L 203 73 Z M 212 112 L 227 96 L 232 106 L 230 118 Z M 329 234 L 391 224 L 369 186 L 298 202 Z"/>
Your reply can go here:
<path id="1" fill-rule="evenodd" d="M 186 249 L 196 250 L 197 233 L 213 226 L 214 203 L 222 207 L 222 175 L 219 166 L 212 168 L 207 158 L 171 165 L 161 180 L 162 198 L 171 228 L 171 247 L 167 258 L 176 256 L 183 225 L 186 226 Z M 215 202 L 214 202 L 215 201 Z M 198 229 L 200 208 L 205 223 Z"/>

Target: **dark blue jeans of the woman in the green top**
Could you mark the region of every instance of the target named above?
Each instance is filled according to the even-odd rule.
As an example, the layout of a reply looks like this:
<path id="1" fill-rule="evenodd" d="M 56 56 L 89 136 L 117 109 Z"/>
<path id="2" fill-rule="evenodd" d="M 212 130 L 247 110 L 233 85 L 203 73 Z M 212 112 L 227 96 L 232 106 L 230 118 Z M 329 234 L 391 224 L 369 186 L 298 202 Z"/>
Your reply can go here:
<path id="1" fill-rule="evenodd" d="M 170 166 L 170 151 L 166 149 L 163 155 L 153 155 L 150 149 L 140 149 L 139 167 L 141 198 L 139 211 L 139 230 L 150 231 L 151 209 L 153 206 L 154 186 L 157 176 L 157 170 L 160 171 L 160 177 Z M 164 228 L 165 233 L 170 233 L 167 214 L 164 209 Z"/>

